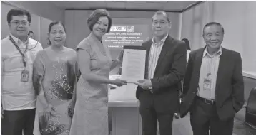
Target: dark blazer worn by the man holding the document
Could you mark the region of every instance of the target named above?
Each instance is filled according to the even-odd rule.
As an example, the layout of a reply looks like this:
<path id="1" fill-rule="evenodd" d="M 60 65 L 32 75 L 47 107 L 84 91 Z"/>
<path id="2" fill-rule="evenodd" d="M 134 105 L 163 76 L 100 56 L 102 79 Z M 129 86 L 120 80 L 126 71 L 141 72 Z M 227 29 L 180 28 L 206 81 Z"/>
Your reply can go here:
<path id="1" fill-rule="evenodd" d="M 148 77 L 148 58 L 152 45 L 152 39 L 142 44 L 146 48 L 145 78 Z M 137 87 L 136 97 L 141 104 L 149 102 L 154 95 L 156 106 L 164 112 L 177 111 L 179 107 L 179 82 L 184 78 L 186 70 L 186 44 L 167 36 L 151 79 L 153 94 L 149 90 Z M 158 105 L 157 105 L 158 104 Z"/>

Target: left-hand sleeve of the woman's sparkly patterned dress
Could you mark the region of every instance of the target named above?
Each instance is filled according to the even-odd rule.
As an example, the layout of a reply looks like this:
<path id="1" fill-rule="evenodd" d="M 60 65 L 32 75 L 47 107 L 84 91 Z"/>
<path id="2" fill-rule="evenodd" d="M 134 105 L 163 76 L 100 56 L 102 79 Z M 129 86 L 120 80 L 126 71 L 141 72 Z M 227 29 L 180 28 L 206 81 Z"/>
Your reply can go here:
<path id="1" fill-rule="evenodd" d="M 33 63 L 32 80 L 33 80 L 33 87 L 36 95 L 39 95 L 41 91 L 43 92 L 43 90 L 41 90 L 41 80 L 44 77 L 44 62 L 42 58 L 42 53 L 43 53 L 43 50 L 37 53 Z"/>

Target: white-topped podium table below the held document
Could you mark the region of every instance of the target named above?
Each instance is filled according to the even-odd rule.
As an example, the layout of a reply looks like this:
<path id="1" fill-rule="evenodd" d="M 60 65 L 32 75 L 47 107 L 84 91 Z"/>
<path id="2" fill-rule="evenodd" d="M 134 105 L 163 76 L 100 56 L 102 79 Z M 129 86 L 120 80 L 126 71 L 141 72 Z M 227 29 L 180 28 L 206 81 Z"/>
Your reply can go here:
<path id="1" fill-rule="evenodd" d="M 109 109 L 112 114 L 111 135 L 141 135 L 142 119 L 139 100 L 135 97 L 137 85 L 109 89 Z"/>

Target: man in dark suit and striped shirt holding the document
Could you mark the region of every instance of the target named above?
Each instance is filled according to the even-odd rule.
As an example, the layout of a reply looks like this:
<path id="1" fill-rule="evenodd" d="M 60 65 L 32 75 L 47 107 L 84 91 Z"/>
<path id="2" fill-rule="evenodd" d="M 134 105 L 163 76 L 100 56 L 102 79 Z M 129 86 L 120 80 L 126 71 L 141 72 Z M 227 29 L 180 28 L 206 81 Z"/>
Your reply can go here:
<path id="1" fill-rule="evenodd" d="M 171 22 L 164 11 L 152 17 L 154 37 L 142 44 L 146 48 L 145 79 L 137 82 L 144 135 L 172 134 L 174 112 L 179 108 L 179 82 L 186 70 L 186 45 L 168 35 Z"/>

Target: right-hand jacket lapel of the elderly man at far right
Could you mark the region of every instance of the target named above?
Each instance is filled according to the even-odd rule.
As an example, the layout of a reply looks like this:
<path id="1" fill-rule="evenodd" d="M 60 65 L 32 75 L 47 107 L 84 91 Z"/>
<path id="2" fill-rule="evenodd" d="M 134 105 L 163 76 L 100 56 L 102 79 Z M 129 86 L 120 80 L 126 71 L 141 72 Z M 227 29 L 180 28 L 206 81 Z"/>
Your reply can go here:
<path id="1" fill-rule="evenodd" d="M 220 85 L 220 82 L 222 80 L 222 75 L 224 75 L 225 72 L 225 64 L 227 63 L 227 55 L 225 53 L 225 48 L 222 48 L 222 55 L 220 55 L 220 61 L 219 61 L 219 68 L 217 72 L 217 79 L 216 79 L 216 87 L 215 90 L 218 90 L 218 86 Z M 215 92 L 216 92 L 215 91 Z"/>

